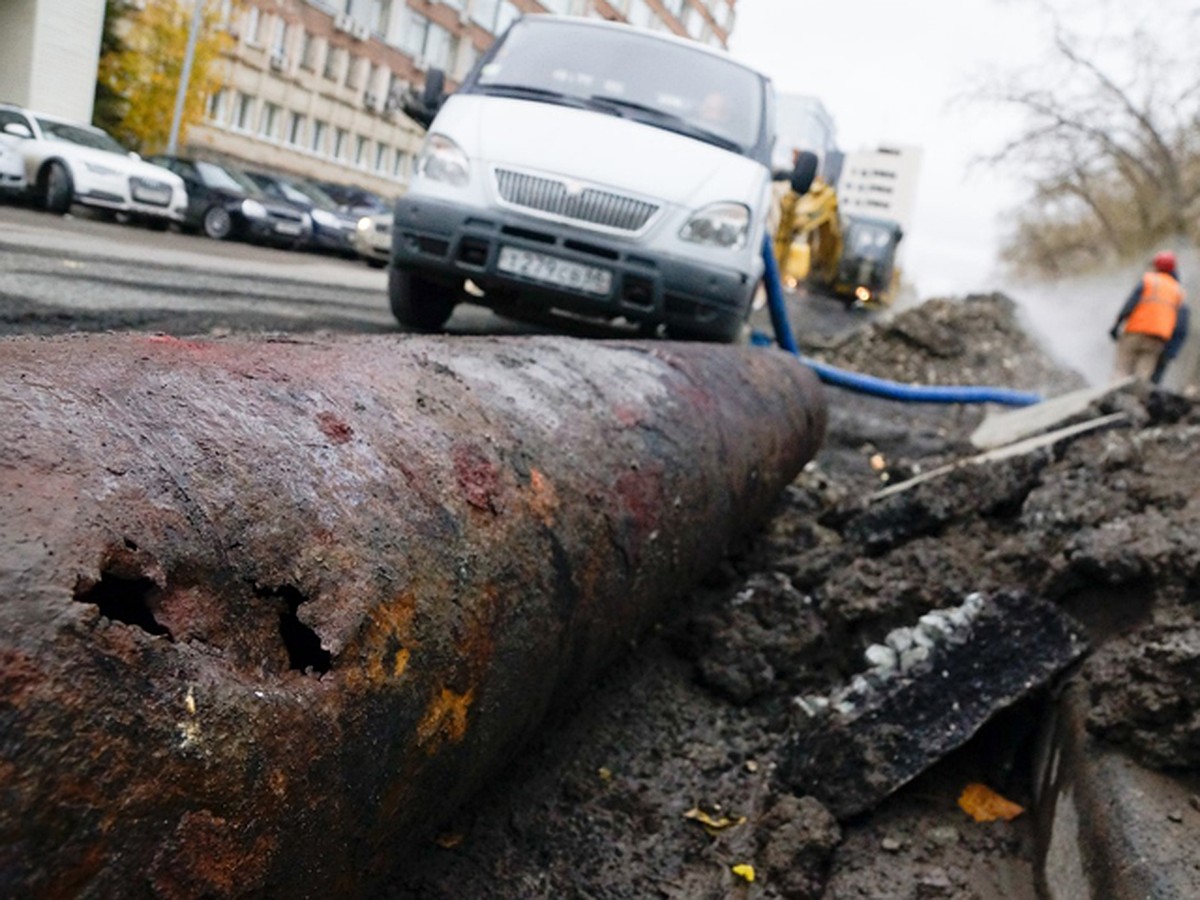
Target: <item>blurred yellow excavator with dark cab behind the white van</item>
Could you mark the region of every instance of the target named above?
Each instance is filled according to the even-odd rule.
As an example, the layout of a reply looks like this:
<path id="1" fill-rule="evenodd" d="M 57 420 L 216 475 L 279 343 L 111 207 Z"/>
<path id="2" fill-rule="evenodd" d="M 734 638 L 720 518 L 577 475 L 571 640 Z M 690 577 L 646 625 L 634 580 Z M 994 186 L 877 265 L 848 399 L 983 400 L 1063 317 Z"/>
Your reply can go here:
<path id="1" fill-rule="evenodd" d="M 839 298 L 847 306 L 886 306 L 900 286 L 898 222 L 842 216 L 838 191 L 816 178 L 806 193 L 788 190 L 780 200 L 775 262 L 784 287 Z"/>

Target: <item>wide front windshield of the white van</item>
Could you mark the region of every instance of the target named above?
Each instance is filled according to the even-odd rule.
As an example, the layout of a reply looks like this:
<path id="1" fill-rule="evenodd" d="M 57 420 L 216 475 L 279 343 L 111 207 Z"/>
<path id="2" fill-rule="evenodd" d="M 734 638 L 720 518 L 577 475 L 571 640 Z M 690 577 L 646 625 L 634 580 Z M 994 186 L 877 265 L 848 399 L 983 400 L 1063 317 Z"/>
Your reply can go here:
<path id="1" fill-rule="evenodd" d="M 467 90 L 586 106 L 745 151 L 760 143 L 764 89 L 751 70 L 686 44 L 526 20 Z"/>

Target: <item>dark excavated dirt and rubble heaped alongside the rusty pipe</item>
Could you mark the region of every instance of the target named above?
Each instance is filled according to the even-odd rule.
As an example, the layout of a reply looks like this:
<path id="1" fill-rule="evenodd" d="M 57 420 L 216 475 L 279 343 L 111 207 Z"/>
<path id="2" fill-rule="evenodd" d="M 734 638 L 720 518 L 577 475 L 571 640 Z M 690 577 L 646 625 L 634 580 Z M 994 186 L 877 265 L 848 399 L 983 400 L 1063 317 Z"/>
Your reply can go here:
<path id="1" fill-rule="evenodd" d="M 805 352 L 845 368 L 1046 394 L 1081 384 L 1000 295 L 865 323 L 816 308 L 797 301 Z M 979 823 L 956 803 L 972 781 L 1030 803 L 1030 708 L 848 821 L 779 778 L 797 696 L 836 690 L 871 643 L 977 592 L 1072 613 L 1097 648 L 1084 665 L 1093 731 L 1146 764 L 1198 767 L 1200 408 L 1116 394 L 1094 412 L 1124 413 L 1121 426 L 872 499 L 971 455 L 985 410 L 839 389 L 829 407 L 826 448 L 766 529 L 406 859 L 391 896 L 1034 896 L 1030 817 Z"/>

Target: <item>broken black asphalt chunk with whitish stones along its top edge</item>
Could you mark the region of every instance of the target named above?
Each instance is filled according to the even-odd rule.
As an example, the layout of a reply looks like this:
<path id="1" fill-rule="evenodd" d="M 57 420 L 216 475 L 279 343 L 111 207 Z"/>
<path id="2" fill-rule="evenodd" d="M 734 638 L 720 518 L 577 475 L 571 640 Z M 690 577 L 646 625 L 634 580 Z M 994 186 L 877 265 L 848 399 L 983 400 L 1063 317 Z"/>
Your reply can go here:
<path id="1" fill-rule="evenodd" d="M 839 820 L 875 806 L 1087 650 L 1078 623 L 1018 592 L 972 594 L 876 647 L 875 665 L 842 690 L 796 702 L 784 778 Z M 901 664 L 917 647 L 926 653 Z"/>

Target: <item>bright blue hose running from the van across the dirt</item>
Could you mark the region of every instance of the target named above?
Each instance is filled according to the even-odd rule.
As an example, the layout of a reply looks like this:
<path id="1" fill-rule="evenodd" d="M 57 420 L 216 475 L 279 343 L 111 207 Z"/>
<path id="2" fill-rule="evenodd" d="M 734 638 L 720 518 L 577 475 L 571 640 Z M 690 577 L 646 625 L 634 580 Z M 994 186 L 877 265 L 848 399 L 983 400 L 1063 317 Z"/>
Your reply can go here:
<path id="1" fill-rule="evenodd" d="M 792 334 L 792 326 L 787 320 L 784 287 L 779 280 L 779 266 L 775 264 L 775 252 L 769 236 L 763 236 L 762 240 L 762 259 L 766 264 L 763 281 L 767 284 L 767 308 L 770 312 L 770 324 L 775 329 L 775 341 L 782 349 L 799 356 L 800 361 L 816 372 L 822 382 L 839 388 L 848 388 L 860 394 L 917 403 L 1001 403 L 1010 407 L 1027 407 L 1042 402 L 1042 396 L 1038 394 L 1014 391 L 1008 388 L 900 384 L 884 378 L 847 372 L 844 368 L 802 356 L 800 349 L 796 344 L 796 336 Z M 763 343 L 763 340 L 757 335 L 754 338 L 755 343 Z"/>

